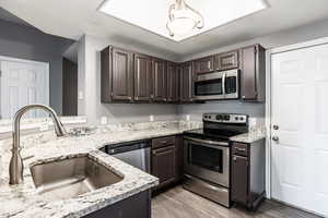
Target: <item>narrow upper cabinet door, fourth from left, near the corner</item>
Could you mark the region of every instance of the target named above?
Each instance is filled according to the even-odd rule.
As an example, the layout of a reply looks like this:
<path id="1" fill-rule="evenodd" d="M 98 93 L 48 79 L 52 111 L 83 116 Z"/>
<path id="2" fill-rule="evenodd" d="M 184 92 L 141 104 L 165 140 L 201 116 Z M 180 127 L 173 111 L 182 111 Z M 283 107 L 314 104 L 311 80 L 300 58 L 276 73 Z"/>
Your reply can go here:
<path id="1" fill-rule="evenodd" d="M 167 101 L 179 100 L 179 71 L 176 63 L 167 62 Z"/>

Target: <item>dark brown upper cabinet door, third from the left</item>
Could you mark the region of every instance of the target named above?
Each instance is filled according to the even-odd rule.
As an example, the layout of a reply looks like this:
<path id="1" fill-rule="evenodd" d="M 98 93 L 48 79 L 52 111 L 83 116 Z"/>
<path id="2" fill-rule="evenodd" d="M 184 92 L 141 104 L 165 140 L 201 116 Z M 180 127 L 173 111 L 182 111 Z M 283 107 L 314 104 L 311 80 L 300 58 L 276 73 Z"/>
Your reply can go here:
<path id="1" fill-rule="evenodd" d="M 153 59 L 154 101 L 166 101 L 166 61 Z"/>

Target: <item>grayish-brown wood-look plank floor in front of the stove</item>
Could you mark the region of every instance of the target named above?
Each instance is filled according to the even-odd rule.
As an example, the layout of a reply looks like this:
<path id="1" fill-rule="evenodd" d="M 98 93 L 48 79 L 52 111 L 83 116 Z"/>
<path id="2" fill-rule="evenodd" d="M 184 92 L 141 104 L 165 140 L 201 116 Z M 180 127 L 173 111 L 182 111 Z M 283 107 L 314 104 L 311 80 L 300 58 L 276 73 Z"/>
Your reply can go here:
<path id="1" fill-rule="evenodd" d="M 152 218 L 319 218 L 276 202 L 266 201 L 256 213 L 227 209 L 176 186 L 152 199 Z"/>

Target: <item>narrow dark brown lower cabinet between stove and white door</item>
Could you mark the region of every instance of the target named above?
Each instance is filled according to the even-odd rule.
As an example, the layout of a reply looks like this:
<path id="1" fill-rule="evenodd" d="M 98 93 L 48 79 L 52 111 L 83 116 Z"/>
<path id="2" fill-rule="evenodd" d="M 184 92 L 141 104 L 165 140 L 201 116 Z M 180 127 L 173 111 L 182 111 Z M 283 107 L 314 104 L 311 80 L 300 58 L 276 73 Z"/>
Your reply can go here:
<path id="1" fill-rule="evenodd" d="M 231 201 L 256 209 L 265 197 L 265 140 L 232 144 Z"/>

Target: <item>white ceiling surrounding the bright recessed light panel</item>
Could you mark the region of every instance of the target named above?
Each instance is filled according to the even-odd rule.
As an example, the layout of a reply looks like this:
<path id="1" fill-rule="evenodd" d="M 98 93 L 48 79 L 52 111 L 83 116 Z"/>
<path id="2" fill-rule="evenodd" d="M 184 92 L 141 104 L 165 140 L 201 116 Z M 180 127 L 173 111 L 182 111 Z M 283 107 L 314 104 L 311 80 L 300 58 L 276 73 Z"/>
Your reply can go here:
<path id="1" fill-rule="evenodd" d="M 195 1 L 199 0 L 187 2 L 192 5 Z M 328 19 L 327 0 L 267 0 L 267 2 L 270 8 L 266 10 L 179 43 L 101 13 L 97 9 L 103 0 L 1 0 L 0 7 L 48 34 L 71 39 L 79 39 L 87 34 L 141 45 L 176 57 L 203 52 Z"/>

